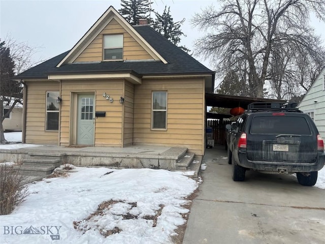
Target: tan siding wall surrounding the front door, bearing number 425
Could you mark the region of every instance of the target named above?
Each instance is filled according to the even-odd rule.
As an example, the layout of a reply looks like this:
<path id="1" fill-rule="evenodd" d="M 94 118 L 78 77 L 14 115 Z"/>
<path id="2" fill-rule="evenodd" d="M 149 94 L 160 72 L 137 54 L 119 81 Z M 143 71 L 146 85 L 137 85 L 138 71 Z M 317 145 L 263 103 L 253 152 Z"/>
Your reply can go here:
<path id="1" fill-rule="evenodd" d="M 62 80 L 61 81 L 61 133 L 60 145 L 69 145 L 74 128 L 71 127 L 76 113 L 76 106 L 70 108 L 71 98 L 75 94 L 95 94 L 95 111 L 105 111 L 105 117 L 95 118 L 95 146 L 122 145 L 122 105 L 123 79 L 99 80 Z M 113 103 L 103 97 L 106 93 L 113 98 Z M 70 134 L 71 133 L 71 134 Z"/>

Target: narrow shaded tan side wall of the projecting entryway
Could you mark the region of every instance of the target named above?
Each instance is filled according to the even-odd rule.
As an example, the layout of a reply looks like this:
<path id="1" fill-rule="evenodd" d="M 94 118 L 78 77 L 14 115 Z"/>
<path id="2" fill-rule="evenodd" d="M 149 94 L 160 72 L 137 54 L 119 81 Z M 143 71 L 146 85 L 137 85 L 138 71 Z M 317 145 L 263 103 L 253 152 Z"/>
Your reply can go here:
<path id="1" fill-rule="evenodd" d="M 134 86 L 128 81 L 124 83 L 123 146 L 133 143 Z"/>

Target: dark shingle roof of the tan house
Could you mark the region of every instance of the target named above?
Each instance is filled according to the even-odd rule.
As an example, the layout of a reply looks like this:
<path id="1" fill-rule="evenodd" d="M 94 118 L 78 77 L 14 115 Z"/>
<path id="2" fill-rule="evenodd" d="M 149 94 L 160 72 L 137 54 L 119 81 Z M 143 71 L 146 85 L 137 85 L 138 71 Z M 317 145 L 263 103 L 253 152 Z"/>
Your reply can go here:
<path id="1" fill-rule="evenodd" d="M 49 74 L 89 74 L 132 72 L 142 75 L 211 74 L 214 72 L 199 63 L 189 54 L 155 32 L 150 26 L 134 26 L 135 30 L 161 55 L 168 64 L 160 61 L 143 62 L 100 62 L 85 64 L 56 65 L 69 53 L 64 52 L 46 62 L 30 68 L 16 76 L 20 79 L 47 78 Z"/>

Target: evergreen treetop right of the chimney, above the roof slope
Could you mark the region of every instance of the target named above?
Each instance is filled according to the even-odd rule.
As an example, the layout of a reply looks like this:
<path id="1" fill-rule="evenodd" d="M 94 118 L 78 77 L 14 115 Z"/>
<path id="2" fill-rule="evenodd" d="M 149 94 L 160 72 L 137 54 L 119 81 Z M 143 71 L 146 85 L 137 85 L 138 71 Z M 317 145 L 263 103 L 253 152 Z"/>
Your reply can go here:
<path id="1" fill-rule="evenodd" d="M 180 29 L 181 24 L 183 24 L 185 21 L 185 18 L 181 21 L 174 22 L 173 17 L 170 14 L 170 7 L 168 7 L 167 10 L 167 6 L 165 6 L 165 10 L 162 15 L 158 14 L 157 12 L 154 13 L 156 15 L 156 19 L 154 20 L 152 27 L 155 29 L 155 31 L 159 32 L 166 39 L 170 40 L 177 46 L 181 41 L 180 36 L 183 35 L 186 37 L 186 35 Z M 179 46 L 179 48 L 186 52 L 190 51 L 185 46 Z"/>

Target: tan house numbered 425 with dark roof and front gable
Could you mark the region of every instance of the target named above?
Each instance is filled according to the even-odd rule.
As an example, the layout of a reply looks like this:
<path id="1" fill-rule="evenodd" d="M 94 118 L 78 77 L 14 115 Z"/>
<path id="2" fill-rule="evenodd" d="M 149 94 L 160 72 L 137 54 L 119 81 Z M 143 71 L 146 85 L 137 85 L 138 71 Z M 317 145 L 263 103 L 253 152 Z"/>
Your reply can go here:
<path id="1" fill-rule="evenodd" d="M 18 76 L 23 142 L 205 150 L 215 72 L 110 7 L 69 51 Z"/>

